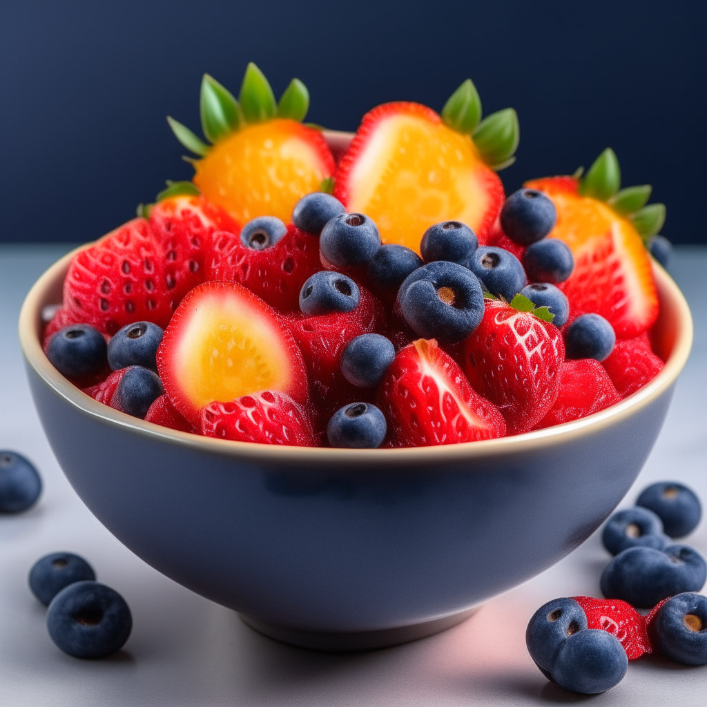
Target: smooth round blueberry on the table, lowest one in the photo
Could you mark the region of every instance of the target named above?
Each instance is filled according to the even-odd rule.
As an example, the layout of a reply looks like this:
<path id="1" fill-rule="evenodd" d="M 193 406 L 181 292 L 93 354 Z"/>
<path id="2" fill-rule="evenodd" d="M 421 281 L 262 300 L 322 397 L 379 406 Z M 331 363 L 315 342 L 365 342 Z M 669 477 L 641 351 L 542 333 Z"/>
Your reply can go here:
<path id="1" fill-rule="evenodd" d="M 574 633 L 560 645 L 551 675 L 566 690 L 593 695 L 618 685 L 629 658 L 616 636 L 602 629 Z"/>

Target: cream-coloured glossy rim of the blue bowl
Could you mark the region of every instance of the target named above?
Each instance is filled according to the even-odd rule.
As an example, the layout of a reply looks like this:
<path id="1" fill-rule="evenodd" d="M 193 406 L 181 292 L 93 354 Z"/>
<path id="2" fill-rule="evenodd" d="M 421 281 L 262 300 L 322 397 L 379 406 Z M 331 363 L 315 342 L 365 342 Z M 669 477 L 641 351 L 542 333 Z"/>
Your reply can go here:
<path id="1" fill-rule="evenodd" d="M 551 448 L 558 443 L 599 433 L 614 423 L 628 419 L 636 412 L 648 407 L 677 380 L 692 346 L 693 323 L 684 295 L 667 274 L 667 271 L 651 259 L 655 284 L 661 301 L 658 321 L 660 322 L 661 315 L 666 315 L 666 305 L 670 305 L 670 309 L 677 313 L 677 326 L 674 331 L 672 350 L 665 361 L 665 366 L 653 380 L 650 380 L 633 395 L 600 412 L 561 425 L 510 437 L 402 449 L 293 447 L 220 440 L 173 430 L 114 410 L 86 395 L 49 363 L 40 343 L 42 308 L 55 303 L 48 300 L 51 293 L 61 291 L 61 284 L 69 269 L 71 258 L 76 252 L 88 245 L 90 244 L 81 245 L 54 262 L 35 281 L 25 297 L 18 322 L 18 334 L 23 356 L 29 366 L 56 395 L 93 419 L 110 426 L 129 429 L 140 436 L 160 442 L 173 443 L 194 450 L 204 450 L 211 454 L 233 457 L 238 460 L 257 460 L 258 462 L 279 463 L 296 467 L 318 467 L 322 464 L 349 467 L 356 464 L 361 469 L 366 467 L 375 469 L 381 465 L 395 467 L 431 464 L 441 468 L 445 464 L 460 461 L 473 462 L 475 459 L 488 459 L 509 453 L 537 452 L 543 448 Z"/>

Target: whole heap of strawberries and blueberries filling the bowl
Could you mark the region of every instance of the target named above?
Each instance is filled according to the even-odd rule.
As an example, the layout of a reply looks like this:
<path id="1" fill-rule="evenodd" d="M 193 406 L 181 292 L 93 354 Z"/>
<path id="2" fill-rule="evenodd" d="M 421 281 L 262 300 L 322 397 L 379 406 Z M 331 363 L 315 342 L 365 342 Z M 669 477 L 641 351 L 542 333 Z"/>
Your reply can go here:
<path id="1" fill-rule="evenodd" d="M 192 180 L 71 260 L 42 333 L 62 375 L 182 432 L 402 448 L 566 423 L 661 370 L 665 206 L 611 149 L 506 197 L 518 117 L 470 80 L 440 113 L 374 107 L 343 151 L 308 106 L 255 64 L 238 98 L 204 76 L 204 139 L 168 117 Z"/>

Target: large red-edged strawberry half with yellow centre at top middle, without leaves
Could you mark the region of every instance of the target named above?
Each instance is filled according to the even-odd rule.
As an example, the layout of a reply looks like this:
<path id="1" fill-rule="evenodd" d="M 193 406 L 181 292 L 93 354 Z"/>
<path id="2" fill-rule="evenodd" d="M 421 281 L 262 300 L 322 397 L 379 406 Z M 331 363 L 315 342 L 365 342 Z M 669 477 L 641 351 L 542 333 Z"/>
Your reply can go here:
<path id="1" fill-rule="evenodd" d="M 383 243 L 420 252 L 425 230 L 462 221 L 481 243 L 503 206 L 503 184 L 471 137 L 419 103 L 366 113 L 334 175 L 334 196 L 373 218 Z"/>

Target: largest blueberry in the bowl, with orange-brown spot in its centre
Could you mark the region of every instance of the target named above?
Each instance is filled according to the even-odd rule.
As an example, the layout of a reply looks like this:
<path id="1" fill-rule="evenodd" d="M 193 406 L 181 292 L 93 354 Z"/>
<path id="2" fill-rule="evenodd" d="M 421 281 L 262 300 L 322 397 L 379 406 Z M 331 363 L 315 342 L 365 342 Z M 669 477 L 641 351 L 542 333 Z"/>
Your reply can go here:
<path id="1" fill-rule="evenodd" d="M 462 341 L 484 316 L 484 292 L 462 265 L 436 260 L 416 269 L 398 292 L 404 320 L 424 339 Z"/>

